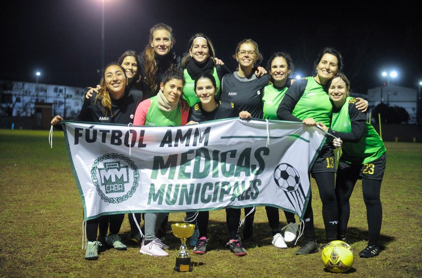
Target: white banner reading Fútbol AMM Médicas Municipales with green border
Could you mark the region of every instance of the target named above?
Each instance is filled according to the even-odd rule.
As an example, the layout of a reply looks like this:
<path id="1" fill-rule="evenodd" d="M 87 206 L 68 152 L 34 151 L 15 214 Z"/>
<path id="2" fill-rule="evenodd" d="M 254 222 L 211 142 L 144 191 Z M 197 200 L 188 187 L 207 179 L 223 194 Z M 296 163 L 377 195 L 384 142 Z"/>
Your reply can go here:
<path id="1" fill-rule="evenodd" d="M 85 220 L 252 206 L 302 218 L 308 172 L 324 139 L 315 127 L 263 120 L 182 127 L 64 122 L 63 127 Z"/>

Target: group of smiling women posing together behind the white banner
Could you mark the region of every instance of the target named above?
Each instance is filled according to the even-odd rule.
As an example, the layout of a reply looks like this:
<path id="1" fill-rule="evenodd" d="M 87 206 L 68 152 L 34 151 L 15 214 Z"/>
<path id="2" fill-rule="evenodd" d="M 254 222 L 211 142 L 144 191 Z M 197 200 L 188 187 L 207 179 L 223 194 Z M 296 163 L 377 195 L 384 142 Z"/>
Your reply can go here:
<path id="1" fill-rule="evenodd" d="M 349 198 L 356 180 L 361 178 L 369 241 L 359 255 L 378 255 L 382 219 L 379 193 L 385 169 L 385 147 L 361 112 L 367 109 L 367 102 L 349 97 L 350 84 L 342 73 L 340 53 L 331 48 L 324 49 L 315 61 L 314 75 L 294 81 L 289 76 L 293 63 L 286 53 L 275 53 L 266 70 L 257 68 L 263 57 L 257 43 L 251 39 L 238 43 L 233 55 L 238 66 L 233 73 L 215 58 L 213 45 L 206 35 L 198 33 L 190 39 L 183 59 L 172 52 L 174 43 L 170 26 L 162 23 L 153 26 L 149 43 L 140 56 L 127 51 L 118 63 L 104 69 L 100 85 L 86 94 L 77 120 L 181 126 L 239 116 L 244 120 L 276 119 L 319 126 L 331 134 L 327 138 L 336 138 L 326 140 L 311 169 L 323 203 L 327 242 L 345 239 L 350 215 Z M 58 125 L 62 120 L 56 116 L 52 125 Z M 334 149 L 341 145 L 343 155 L 335 183 Z M 226 209 L 229 231 L 226 247 L 236 256 L 247 254 L 242 239 L 253 234 L 254 212 L 253 208 L 245 209 L 245 227 L 240 236 L 240 209 Z M 276 248 L 287 248 L 286 242 L 294 241 L 298 231 L 294 214 L 284 212 L 287 225 L 280 229 L 279 209 L 266 207 L 266 212 L 273 234 L 272 244 Z M 193 218 L 191 214 L 187 216 Z M 130 238 L 141 244 L 141 254 L 168 256 L 165 251 L 168 246 L 163 238 L 157 237 L 158 230 L 165 228 L 166 217 L 166 213 L 145 213 L 141 241 L 138 230 L 141 215 L 129 215 Z M 118 214 L 86 222 L 85 259 L 97 259 L 101 244 L 117 250 L 126 249 L 118 236 L 123 218 L 124 214 Z M 318 252 L 311 201 L 304 220 L 305 241 L 297 255 Z M 208 221 L 208 211 L 198 213 L 198 238 L 193 240 L 195 254 L 207 252 Z M 97 240 L 98 227 L 100 235 Z M 106 235 L 108 230 L 110 233 Z"/>

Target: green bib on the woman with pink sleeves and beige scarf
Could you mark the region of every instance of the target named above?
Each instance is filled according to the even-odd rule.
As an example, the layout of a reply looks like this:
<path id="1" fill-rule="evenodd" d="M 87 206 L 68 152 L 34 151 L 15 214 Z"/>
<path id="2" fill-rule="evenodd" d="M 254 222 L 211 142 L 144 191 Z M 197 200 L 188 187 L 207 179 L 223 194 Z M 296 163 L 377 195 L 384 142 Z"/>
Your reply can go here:
<path id="1" fill-rule="evenodd" d="M 170 112 L 161 111 L 158 109 L 157 96 L 153 96 L 149 100 L 151 101 L 151 105 L 145 116 L 145 126 L 177 127 L 182 125 L 182 112 L 179 106 Z"/>

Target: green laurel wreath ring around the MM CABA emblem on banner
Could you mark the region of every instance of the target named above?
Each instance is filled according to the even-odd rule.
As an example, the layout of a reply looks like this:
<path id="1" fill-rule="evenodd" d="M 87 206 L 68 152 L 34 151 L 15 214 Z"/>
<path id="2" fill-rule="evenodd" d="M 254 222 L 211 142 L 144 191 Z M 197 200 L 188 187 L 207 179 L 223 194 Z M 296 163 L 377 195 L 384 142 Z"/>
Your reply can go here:
<path id="1" fill-rule="evenodd" d="M 125 195 L 120 196 L 120 197 L 110 198 L 110 197 L 107 197 L 100 189 L 100 186 L 98 184 L 98 179 L 97 179 L 97 167 L 100 162 L 106 159 L 114 159 L 114 158 L 123 160 L 126 163 L 128 163 L 129 166 L 131 166 L 131 169 L 134 171 L 134 183 L 132 184 L 131 190 L 129 190 L 129 192 L 126 193 Z M 95 185 L 95 188 L 97 189 L 98 195 L 100 195 L 102 200 L 104 200 L 107 203 L 117 204 L 117 203 L 122 203 L 128 200 L 129 198 L 132 197 L 132 195 L 134 195 L 139 185 L 140 175 L 139 175 L 138 167 L 135 165 L 135 162 L 132 159 L 130 159 L 127 156 L 124 156 L 123 154 L 107 153 L 95 159 L 94 164 L 92 164 L 92 168 L 91 168 L 91 179 Z"/>

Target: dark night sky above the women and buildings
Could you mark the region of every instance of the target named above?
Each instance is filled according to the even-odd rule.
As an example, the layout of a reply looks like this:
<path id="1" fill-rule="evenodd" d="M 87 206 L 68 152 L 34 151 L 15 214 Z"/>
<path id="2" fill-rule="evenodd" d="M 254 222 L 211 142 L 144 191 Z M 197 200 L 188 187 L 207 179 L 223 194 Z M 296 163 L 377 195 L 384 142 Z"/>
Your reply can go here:
<path id="1" fill-rule="evenodd" d="M 163 22 L 173 27 L 178 55 L 194 33 L 203 32 L 230 70 L 236 44 L 252 38 L 264 55 L 261 65 L 286 51 L 301 76 L 311 74 L 322 48 L 336 48 L 356 92 L 379 86 L 382 70 L 399 72 L 396 85 L 416 88 L 422 80 L 422 13 L 416 6 L 278 3 L 105 0 L 105 63 L 127 49 L 143 51 L 149 28 Z M 98 83 L 101 0 L 3 0 L 1 22 L 0 79 L 35 82 L 40 70 L 40 83 Z"/>

